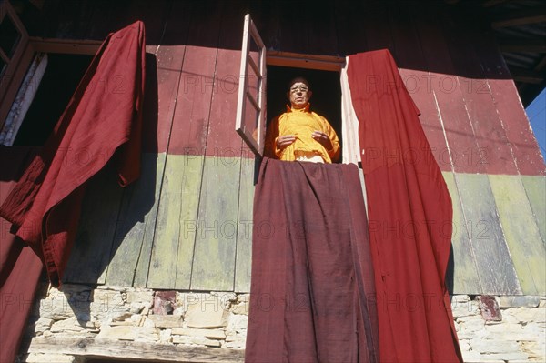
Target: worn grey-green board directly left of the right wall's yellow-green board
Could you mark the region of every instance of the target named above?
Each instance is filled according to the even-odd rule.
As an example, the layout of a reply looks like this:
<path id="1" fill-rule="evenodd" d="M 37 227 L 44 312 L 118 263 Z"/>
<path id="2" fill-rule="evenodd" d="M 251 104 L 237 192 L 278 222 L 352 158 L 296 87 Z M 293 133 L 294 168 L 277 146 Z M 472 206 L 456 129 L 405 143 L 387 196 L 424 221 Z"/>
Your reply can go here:
<path id="1" fill-rule="evenodd" d="M 465 227 L 476 259 L 482 294 L 520 295 L 520 282 L 502 233 L 486 174 L 455 174 Z"/>

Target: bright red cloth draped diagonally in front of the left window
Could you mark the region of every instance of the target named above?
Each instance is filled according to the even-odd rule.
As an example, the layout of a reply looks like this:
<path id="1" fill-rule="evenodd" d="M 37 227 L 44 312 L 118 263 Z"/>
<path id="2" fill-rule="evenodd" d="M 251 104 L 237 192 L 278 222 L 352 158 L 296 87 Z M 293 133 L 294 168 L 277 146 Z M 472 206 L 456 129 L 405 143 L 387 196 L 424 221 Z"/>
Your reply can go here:
<path id="1" fill-rule="evenodd" d="M 60 284 L 76 236 L 86 181 L 107 162 L 122 186 L 140 173 L 144 24 L 108 35 L 43 152 L 0 207 Z"/>

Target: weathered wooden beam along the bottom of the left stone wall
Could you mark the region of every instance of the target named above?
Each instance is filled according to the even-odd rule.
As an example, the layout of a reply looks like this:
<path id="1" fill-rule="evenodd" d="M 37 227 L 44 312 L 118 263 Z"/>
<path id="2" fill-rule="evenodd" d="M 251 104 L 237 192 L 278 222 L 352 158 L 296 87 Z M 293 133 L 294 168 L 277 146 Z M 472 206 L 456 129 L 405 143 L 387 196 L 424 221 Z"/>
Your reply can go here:
<path id="1" fill-rule="evenodd" d="M 141 359 L 147 362 L 224 363 L 243 362 L 245 351 L 227 348 L 191 347 L 97 338 L 32 338 L 29 353 L 57 353 L 70 356 Z"/>

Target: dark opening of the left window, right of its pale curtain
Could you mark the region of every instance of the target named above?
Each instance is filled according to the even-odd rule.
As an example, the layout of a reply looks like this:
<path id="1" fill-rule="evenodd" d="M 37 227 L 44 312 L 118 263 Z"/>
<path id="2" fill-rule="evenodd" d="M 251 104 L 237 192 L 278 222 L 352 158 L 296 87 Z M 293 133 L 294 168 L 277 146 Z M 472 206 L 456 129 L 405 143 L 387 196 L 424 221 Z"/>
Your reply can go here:
<path id="1" fill-rule="evenodd" d="M 44 76 L 15 136 L 15 146 L 45 144 L 92 59 L 92 55 L 47 54 Z"/>

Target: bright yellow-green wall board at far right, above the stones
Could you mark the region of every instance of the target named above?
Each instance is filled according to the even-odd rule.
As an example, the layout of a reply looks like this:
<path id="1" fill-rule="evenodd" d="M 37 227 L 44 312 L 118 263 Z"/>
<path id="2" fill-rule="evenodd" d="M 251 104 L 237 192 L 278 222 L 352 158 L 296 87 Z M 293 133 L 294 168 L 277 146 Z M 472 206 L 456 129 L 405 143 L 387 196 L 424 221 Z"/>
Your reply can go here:
<path id="1" fill-rule="evenodd" d="M 502 230 L 525 295 L 546 294 L 546 249 L 520 176 L 490 175 Z"/>

